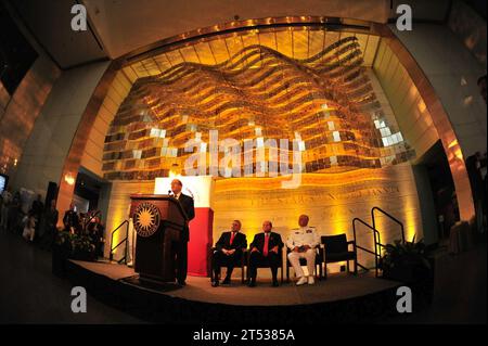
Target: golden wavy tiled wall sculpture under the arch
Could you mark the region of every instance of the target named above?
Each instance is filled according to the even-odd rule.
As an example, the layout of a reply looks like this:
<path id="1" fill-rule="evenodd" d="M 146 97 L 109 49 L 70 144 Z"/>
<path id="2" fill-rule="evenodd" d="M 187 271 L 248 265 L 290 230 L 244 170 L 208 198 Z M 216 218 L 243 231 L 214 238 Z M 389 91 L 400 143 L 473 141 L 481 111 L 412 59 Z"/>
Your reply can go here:
<path id="1" fill-rule="evenodd" d="M 208 143 L 210 130 L 218 130 L 220 140 L 241 144 L 251 139 L 266 146 L 267 140 L 288 139 L 290 167 L 292 141 L 299 138 L 295 150 L 300 151 L 304 172 L 406 162 L 414 152 L 387 124 L 362 56 L 355 36 L 307 59 L 249 44 L 222 63 L 183 62 L 139 78 L 105 138 L 104 177 L 168 176 L 171 167 L 184 167 L 191 154 L 184 152 L 185 143 Z"/>

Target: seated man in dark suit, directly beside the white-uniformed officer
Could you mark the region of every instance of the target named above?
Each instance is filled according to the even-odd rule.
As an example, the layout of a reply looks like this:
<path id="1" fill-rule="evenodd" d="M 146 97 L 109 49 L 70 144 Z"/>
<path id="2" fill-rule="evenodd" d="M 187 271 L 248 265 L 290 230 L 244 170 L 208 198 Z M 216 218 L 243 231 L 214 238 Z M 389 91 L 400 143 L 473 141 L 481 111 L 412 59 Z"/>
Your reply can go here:
<path id="1" fill-rule="evenodd" d="M 259 265 L 267 265 L 271 268 L 272 285 L 278 286 L 277 273 L 282 260 L 280 254 L 283 242 L 280 234 L 271 232 L 272 228 L 271 221 L 262 222 L 264 232 L 256 234 L 249 245 L 249 287 L 256 286 L 257 267 Z"/>

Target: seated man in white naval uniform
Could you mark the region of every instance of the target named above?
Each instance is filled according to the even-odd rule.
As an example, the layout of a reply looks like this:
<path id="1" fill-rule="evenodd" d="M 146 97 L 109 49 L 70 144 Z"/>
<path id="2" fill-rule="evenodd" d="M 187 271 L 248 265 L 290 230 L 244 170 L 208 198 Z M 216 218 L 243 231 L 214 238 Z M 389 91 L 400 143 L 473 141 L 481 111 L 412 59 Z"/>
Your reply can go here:
<path id="1" fill-rule="evenodd" d="M 308 226 L 308 216 L 300 215 L 298 218 L 299 228 L 293 229 L 286 240 L 286 246 L 292 251 L 288 254 L 288 260 L 298 278 L 296 285 L 305 283 L 313 284 L 313 273 L 316 268 L 317 246 L 320 244 L 320 236 L 314 227 Z M 307 260 L 308 278 L 304 274 L 300 266 L 300 258 Z"/>

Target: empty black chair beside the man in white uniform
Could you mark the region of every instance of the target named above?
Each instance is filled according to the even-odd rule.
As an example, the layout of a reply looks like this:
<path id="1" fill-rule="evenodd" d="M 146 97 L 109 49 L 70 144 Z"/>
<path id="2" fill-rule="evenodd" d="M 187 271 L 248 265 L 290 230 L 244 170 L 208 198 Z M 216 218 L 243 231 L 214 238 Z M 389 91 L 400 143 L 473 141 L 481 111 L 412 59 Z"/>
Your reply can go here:
<path id="1" fill-rule="evenodd" d="M 323 235 L 321 236 L 321 248 L 324 262 L 324 279 L 328 279 L 328 264 L 337 261 L 347 262 L 347 272 L 349 273 L 349 261 L 352 260 L 355 265 L 354 273 L 358 273 L 358 256 L 355 241 L 347 241 L 346 234 L 338 235 Z M 352 245 L 352 251 L 349 251 L 349 245 Z"/>

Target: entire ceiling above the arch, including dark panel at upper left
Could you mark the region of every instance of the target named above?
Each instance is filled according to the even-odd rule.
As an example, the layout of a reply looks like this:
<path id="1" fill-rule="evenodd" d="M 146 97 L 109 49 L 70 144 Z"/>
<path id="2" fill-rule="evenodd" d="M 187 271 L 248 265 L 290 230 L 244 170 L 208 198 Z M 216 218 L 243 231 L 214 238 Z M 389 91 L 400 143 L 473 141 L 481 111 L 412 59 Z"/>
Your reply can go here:
<path id="1" fill-rule="evenodd" d="M 239 20 L 328 16 L 386 23 L 399 3 L 414 21 L 441 22 L 450 0 L 4 0 L 61 68 L 117 59 L 182 33 Z M 73 31 L 70 8 L 87 7 L 87 31 Z"/>

